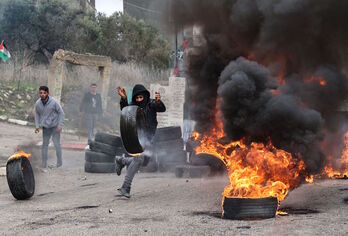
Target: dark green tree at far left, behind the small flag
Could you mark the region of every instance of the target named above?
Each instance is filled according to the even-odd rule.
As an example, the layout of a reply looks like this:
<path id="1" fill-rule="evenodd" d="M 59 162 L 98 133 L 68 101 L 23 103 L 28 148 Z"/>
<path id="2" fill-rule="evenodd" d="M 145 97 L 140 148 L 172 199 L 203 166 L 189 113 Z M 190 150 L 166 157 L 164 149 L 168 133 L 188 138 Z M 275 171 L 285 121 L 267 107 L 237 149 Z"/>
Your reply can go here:
<path id="1" fill-rule="evenodd" d="M 4 9 L 0 30 L 26 64 L 48 63 L 57 49 L 67 49 L 74 30 L 71 21 L 81 14 L 57 0 L 42 1 L 38 7 L 32 1 L 14 0 Z"/>

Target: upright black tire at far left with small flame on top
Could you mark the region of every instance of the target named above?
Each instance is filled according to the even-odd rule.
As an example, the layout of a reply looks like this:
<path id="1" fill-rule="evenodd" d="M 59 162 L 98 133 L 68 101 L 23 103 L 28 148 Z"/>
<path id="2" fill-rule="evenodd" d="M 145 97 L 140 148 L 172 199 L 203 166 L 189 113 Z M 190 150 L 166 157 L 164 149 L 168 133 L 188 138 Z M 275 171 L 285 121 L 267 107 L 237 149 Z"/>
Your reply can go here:
<path id="1" fill-rule="evenodd" d="M 6 165 L 6 176 L 10 191 L 17 200 L 25 200 L 34 195 L 35 178 L 27 158 L 9 160 Z"/>

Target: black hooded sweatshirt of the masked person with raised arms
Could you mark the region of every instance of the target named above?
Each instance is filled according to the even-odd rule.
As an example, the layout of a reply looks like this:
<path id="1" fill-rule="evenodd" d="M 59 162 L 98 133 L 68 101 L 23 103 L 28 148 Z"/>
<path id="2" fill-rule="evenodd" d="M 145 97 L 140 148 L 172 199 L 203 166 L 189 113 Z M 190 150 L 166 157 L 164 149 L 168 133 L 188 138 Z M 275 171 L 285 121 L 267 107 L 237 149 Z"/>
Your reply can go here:
<path id="1" fill-rule="evenodd" d="M 141 103 L 137 103 L 135 98 L 137 95 L 143 95 L 144 100 Z M 127 99 L 122 99 L 120 101 L 121 110 L 128 106 Z M 156 133 L 157 128 L 157 112 L 165 112 L 166 107 L 163 104 L 162 101 L 156 102 L 156 100 L 150 98 L 150 92 L 141 84 L 137 84 L 133 88 L 133 96 L 132 96 L 132 102 L 130 105 L 137 105 L 139 106 L 143 114 L 145 115 L 146 120 L 146 129 L 148 132 L 148 136 L 150 139 L 153 138 L 153 136 Z"/>

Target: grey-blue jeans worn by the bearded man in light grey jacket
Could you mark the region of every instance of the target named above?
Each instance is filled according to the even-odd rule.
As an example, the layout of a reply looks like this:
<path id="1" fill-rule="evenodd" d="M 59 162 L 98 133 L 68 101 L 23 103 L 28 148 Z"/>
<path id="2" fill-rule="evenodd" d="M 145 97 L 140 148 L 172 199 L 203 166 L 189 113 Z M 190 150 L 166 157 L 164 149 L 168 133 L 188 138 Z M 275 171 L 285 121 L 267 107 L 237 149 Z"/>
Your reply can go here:
<path id="1" fill-rule="evenodd" d="M 50 139 L 52 137 L 52 141 L 54 147 L 56 148 L 57 154 L 57 167 L 60 167 L 62 162 L 62 148 L 60 146 L 60 132 L 57 131 L 57 127 L 53 128 L 43 128 L 42 129 L 42 168 L 47 168 L 47 153 L 48 153 L 48 145 L 50 143 Z"/>

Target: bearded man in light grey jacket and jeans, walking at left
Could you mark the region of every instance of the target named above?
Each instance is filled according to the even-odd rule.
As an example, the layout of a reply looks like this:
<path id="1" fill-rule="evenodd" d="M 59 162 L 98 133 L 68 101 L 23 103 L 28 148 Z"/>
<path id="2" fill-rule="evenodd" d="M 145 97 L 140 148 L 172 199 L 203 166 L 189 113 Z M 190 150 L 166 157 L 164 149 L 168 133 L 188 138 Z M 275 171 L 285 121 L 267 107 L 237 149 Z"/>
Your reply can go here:
<path id="1" fill-rule="evenodd" d="M 60 133 L 64 126 L 64 112 L 56 99 L 49 96 L 46 86 L 39 88 L 40 98 L 35 103 L 35 133 L 40 132 L 42 126 L 42 170 L 47 172 L 47 152 L 50 138 L 52 137 L 57 155 L 57 168 L 61 167 L 62 148 L 60 146 Z"/>

